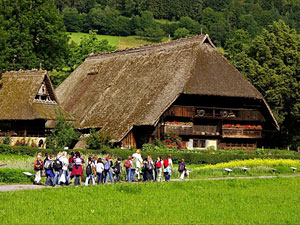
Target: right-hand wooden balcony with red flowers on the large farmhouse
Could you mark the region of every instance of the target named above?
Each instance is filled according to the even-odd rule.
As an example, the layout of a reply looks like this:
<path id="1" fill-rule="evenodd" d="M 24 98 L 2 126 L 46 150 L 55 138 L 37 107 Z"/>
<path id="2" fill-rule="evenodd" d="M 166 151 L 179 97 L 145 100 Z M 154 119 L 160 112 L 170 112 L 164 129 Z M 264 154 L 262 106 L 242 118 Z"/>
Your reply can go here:
<path id="1" fill-rule="evenodd" d="M 223 138 L 262 138 L 262 130 L 249 128 L 222 128 Z"/>

